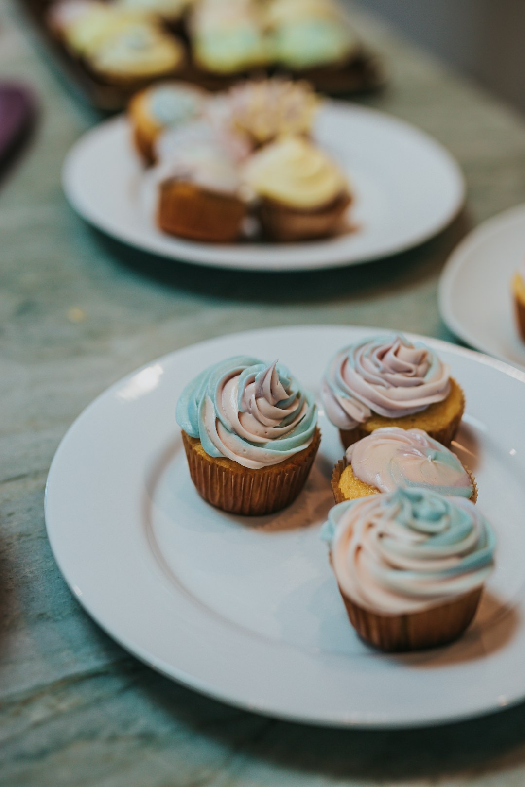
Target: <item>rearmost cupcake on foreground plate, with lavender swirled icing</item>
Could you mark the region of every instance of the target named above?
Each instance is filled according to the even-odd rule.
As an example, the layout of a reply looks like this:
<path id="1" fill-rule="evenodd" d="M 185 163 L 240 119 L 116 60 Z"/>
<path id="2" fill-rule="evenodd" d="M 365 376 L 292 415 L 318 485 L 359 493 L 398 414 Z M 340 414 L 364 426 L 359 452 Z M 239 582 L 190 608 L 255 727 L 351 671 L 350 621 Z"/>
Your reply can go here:
<path id="1" fill-rule="evenodd" d="M 464 394 L 449 367 L 423 342 L 375 336 L 339 350 L 321 393 L 347 448 L 375 429 L 422 429 L 449 445 L 464 412 Z"/>

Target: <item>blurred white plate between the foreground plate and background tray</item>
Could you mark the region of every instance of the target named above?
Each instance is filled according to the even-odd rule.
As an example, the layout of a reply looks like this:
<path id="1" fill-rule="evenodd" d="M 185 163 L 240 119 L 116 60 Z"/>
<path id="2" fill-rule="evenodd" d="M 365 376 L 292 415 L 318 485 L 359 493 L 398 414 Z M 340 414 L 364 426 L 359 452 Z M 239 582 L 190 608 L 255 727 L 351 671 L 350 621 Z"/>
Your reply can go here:
<path id="1" fill-rule="evenodd" d="M 263 271 L 327 268 L 409 249 L 446 227 L 463 204 L 464 179 L 456 162 L 401 120 L 327 102 L 315 135 L 348 172 L 356 194 L 349 214 L 356 231 L 330 240 L 224 246 L 165 235 L 143 207 L 142 167 L 123 117 L 100 124 L 76 143 L 65 161 L 65 194 L 80 216 L 131 246 L 219 268 Z"/>

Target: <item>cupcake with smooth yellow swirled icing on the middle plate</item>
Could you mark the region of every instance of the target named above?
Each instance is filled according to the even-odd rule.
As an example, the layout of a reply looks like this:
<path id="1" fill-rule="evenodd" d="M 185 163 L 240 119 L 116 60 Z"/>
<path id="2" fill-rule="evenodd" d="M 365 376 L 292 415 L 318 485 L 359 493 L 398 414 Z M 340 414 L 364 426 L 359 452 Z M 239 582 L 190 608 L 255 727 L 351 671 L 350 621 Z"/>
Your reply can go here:
<path id="1" fill-rule="evenodd" d="M 276 241 L 331 235 L 352 199 L 338 166 L 299 136 L 283 137 L 254 153 L 244 177 L 259 198 L 261 226 Z"/>

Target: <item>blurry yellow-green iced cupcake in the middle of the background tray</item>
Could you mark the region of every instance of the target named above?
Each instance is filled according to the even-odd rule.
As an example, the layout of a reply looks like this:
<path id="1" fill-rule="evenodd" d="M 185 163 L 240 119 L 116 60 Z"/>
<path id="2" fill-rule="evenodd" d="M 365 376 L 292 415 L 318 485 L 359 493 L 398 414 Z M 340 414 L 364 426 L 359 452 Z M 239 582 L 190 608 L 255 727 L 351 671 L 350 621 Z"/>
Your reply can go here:
<path id="1" fill-rule="evenodd" d="M 201 0 L 190 20 L 194 64 L 222 76 L 268 65 L 270 51 L 257 0 Z"/>

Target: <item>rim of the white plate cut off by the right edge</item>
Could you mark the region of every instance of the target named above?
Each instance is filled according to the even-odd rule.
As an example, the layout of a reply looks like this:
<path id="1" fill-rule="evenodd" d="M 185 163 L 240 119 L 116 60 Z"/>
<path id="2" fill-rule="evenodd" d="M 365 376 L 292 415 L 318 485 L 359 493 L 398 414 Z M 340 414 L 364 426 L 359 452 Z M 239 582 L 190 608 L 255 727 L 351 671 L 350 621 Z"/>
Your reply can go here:
<path id="1" fill-rule="evenodd" d="M 493 235 L 504 233 L 506 227 L 514 224 L 519 219 L 525 221 L 525 203 L 513 205 L 512 208 L 508 208 L 497 213 L 495 216 L 491 216 L 490 219 L 486 219 L 482 224 L 479 224 L 478 227 L 474 227 L 474 229 L 462 238 L 456 248 L 453 249 L 449 259 L 446 260 L 446 264 L 439 278 L 438 307 L 443 322 L 462 342 L 474 347 L 480 353 L 486 353 L 491 357 L 503 361 L 505 364 L 523 369 L 525 367 L 523 367 L 522 364 L 505 357 L 505 355 L 501 353 L 494 352 L 493 348 L 486 345 L 482 339 L 480 340 L 478 338 L 475 332 L 472 332 L 465 326 L 453 309 L 451 297 L 457 275 L 468 260 L 468 257 L 471 256 L 471 253 L 473 253 L 476 248 L 479 248 L 479 246 L 483 246 Z"/>

